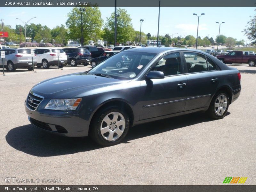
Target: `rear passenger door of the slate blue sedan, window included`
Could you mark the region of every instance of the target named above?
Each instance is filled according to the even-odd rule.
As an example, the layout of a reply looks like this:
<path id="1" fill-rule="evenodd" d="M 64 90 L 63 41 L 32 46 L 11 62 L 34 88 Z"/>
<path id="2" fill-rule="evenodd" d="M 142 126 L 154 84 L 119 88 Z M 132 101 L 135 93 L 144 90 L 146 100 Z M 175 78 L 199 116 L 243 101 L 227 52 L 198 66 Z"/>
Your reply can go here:
<path id="1" fill-rule="evenodd" d="M 188 79 L 185 111 L 207 107 L 221 81 L 219 68 L 204 54 L 184 51 L 183 56 Z"/>

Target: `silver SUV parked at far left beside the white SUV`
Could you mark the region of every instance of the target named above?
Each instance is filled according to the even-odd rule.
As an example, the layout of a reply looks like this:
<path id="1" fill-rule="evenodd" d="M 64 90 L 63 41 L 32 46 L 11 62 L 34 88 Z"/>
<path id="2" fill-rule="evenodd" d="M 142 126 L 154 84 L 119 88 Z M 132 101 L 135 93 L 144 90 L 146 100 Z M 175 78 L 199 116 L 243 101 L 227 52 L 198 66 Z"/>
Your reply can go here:
<path id="1" fill-rule="evenodd" d="M 1 49 L 5 52 L 4 66 L 8 71 L 15 71 L 16 68 L 27 68 L 33 70 L 31 50 L 26 48 Z M 36 65 L 36 55 L 33 56 L 34 66 Z"/>

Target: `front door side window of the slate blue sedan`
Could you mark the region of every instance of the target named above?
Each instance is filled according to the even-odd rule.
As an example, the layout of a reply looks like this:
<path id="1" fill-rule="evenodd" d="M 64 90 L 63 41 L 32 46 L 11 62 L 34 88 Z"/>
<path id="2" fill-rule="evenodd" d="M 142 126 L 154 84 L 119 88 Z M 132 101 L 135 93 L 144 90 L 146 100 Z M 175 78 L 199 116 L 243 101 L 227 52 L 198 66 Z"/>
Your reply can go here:
<path id="1" fill-rule="evenodd" d="M 162 71 L 164 76 L 181 74 L 180 53 L 171 53 L 164 56 L 151 70 Z"/>

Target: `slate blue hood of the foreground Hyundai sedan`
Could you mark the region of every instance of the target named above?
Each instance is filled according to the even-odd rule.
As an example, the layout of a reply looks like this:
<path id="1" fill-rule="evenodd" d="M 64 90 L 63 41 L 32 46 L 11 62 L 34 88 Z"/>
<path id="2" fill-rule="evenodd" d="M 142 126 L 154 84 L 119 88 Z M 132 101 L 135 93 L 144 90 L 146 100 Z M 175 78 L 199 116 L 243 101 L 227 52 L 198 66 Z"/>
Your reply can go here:
<path id="1" fill-rule="evenodd" d="M 75 73 L 65 76 L 55 77 L 36 84 L 30 92 L 44 97 L 44 99 L 68 99 L 81 96 L 83 93 L 109 86 L 121 84 L 126 81 L 95 76 L 86 73 Z"/>

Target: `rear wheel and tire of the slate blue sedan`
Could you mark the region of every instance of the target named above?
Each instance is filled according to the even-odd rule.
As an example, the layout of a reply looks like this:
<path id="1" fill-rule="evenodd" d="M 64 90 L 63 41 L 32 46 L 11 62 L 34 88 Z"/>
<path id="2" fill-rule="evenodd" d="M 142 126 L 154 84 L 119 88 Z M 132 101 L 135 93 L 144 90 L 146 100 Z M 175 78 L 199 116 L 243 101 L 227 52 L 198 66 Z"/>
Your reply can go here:
<path id="1" fill-rule="evenodd" d="M 213 119 L 221 119 L 227 114 L 228 106 L 228 94 L 224 91 L 219 91 L 212 98 L 211 104 L 207 110 L 207 114 Z"/>

